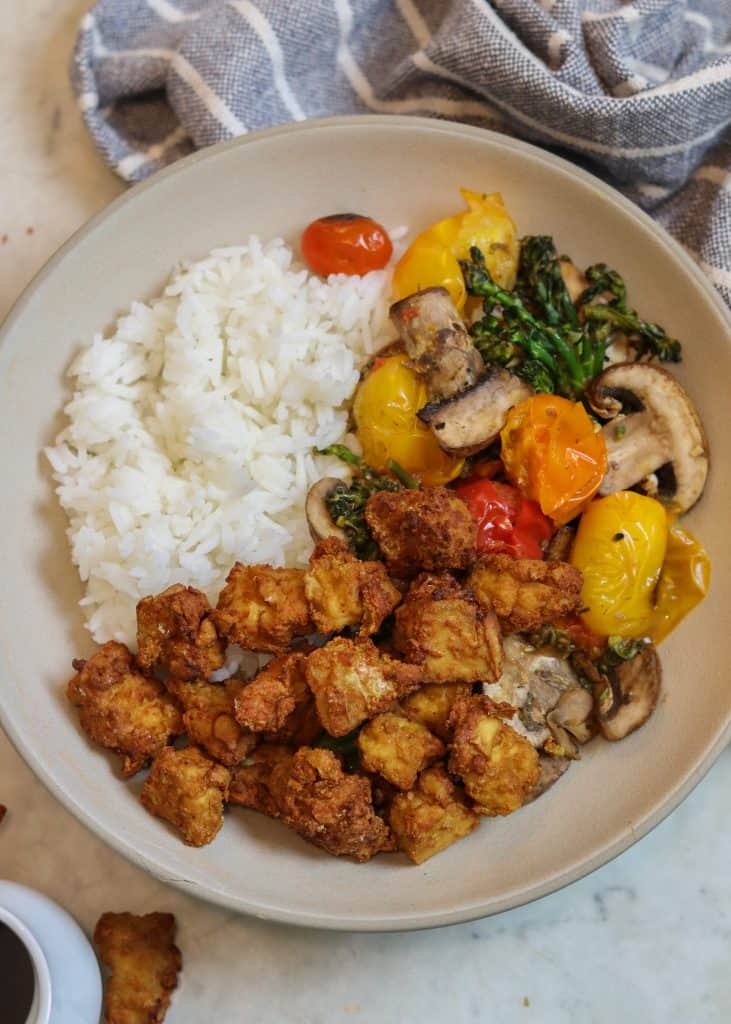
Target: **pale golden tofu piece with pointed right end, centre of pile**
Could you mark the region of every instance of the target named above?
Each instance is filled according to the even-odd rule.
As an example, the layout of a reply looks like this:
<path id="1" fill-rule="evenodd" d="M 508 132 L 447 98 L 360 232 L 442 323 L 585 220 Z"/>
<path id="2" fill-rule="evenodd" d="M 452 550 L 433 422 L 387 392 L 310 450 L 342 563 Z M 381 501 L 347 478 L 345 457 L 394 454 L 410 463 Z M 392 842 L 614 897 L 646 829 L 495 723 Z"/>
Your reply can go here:
<path id="1" fill-rule="evenodd" d="M 331 736 L 344 736 L 415 690 L 421 669 L 382 653 L 367 638 L 336 637 L 305 664 L 317 714 Z"/>

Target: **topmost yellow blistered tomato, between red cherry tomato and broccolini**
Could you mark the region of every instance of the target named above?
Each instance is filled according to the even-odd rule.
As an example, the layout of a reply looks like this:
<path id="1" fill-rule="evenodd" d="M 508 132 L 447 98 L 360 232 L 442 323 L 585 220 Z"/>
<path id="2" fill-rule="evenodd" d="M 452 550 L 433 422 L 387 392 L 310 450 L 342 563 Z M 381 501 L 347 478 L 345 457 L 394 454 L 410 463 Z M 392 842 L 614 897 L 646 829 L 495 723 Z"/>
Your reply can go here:
<path id="1" fill-rule="evenodd" d="M 393 271 L 393 295 L 404 299 L 424 288 L 445 288 L 457 308 L 465 305 L 465 283 L 459 261 L 472 246 L 485 258 L 487 269 L 503 288 L 512 288 L 518 269 L 519 245 L 513 223 L 499 193 L 485 195 L 460 189 L 468 210 L 422 231 Z"/>

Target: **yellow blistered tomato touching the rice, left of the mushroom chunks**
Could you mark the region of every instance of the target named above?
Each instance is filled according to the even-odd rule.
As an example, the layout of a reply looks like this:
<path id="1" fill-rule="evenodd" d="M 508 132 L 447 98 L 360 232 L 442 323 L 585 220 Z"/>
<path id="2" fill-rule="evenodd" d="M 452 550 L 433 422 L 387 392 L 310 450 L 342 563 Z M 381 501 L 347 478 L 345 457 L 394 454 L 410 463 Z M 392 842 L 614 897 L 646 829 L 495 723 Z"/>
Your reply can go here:
<path id="1" fill-rule="evenodd" d="M 359 385 L 353 417 L 363 459 L 385 471 L 389 461 L 422 483 L 447 483 L 459 476 L 464 460 L 446 455 L 417 413 L 427 403 L 424 382 L 407 366 L 405 355 L 379 359 Z"/>

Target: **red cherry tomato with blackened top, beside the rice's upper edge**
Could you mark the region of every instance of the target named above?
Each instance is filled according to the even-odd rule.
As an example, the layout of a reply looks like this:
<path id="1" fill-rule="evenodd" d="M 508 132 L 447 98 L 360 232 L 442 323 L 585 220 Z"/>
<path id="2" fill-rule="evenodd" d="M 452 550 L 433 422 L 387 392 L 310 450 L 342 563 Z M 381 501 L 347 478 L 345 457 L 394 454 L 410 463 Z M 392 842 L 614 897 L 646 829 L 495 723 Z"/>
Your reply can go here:
<path id="1" fill-rule="evenodd" d="M 331 273 L 362 274 L 380 270 L 393 252 L 385 227 L 357 213 L 334 213 L 305 227 L 302 255 L 310 270 L 327 278 Z"/>

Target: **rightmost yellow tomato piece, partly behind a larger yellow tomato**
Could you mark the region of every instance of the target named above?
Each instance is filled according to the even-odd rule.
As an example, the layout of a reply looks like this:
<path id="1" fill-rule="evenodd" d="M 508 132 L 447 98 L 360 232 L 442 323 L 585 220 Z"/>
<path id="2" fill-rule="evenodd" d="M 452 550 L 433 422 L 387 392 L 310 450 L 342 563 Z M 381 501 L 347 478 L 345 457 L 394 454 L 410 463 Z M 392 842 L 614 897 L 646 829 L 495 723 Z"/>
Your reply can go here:
<path id="1" fill-rule="evenodd" d="M 703 600 L 709 583 L 711 559 L 702 545 L 686 529 L 671 526 L 650 616 L 649 635 L 655 643 L 664 640 Z"/>

